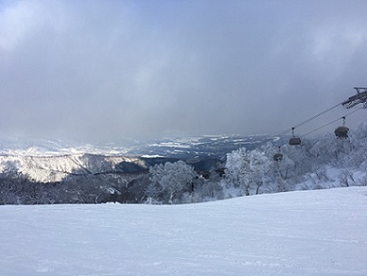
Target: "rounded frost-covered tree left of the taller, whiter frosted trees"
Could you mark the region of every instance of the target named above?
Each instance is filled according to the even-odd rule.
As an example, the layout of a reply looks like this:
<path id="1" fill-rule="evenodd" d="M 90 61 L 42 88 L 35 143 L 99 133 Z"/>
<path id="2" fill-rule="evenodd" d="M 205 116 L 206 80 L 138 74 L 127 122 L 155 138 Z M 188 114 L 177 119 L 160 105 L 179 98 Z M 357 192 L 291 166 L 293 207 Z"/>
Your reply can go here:
<path id="1" fill-rule="evenodd" d="M 150 185 L 147 188 L 149 201 L 179 203 L 181 196 L 191 190 L 195 176 L 194 168 L 181 160 L 150 167 Z"/>

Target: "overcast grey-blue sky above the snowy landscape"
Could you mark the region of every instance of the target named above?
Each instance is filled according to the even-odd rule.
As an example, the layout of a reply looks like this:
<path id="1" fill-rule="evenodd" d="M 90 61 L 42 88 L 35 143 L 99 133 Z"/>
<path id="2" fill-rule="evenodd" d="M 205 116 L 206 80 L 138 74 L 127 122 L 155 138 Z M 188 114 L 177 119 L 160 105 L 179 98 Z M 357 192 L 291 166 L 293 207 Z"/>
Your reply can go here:
<path id="1" fill-rule="evenodd" d="M 365 0 L 0 1 L 0 133 L 276 134 L 367 86 L 366 14 Z"/>

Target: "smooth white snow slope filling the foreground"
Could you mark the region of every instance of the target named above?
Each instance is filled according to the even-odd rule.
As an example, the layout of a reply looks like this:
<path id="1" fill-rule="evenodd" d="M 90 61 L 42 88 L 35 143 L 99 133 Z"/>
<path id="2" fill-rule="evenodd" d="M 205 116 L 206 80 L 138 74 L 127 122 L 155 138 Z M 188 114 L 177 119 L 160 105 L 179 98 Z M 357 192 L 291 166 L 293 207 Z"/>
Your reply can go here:
<path id="1" fill-rule="evenodd" d="M 0 275 L 367 275 L 367 187 L 195 205 L 2 205 Z"/>

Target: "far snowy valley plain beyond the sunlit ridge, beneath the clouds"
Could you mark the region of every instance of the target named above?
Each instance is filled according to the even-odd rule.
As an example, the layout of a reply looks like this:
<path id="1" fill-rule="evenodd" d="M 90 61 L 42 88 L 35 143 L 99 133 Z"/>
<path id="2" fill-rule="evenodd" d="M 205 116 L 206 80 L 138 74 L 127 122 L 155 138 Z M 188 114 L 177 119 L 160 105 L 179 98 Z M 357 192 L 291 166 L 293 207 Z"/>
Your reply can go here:
<path id="1" fill-rule="evenodd" d="M 122 139 L 110 144 L 78 144 L 72 141 L 37 138 L 0 140 L 0 154 L 22 156 L 60 156 L 90 153 L 95 155 L 123 155 L 145 157 L 225 157 L 240 147 L 253 149 L 273 140 L 266 135 L 207 135 L 187 138 Z"/>

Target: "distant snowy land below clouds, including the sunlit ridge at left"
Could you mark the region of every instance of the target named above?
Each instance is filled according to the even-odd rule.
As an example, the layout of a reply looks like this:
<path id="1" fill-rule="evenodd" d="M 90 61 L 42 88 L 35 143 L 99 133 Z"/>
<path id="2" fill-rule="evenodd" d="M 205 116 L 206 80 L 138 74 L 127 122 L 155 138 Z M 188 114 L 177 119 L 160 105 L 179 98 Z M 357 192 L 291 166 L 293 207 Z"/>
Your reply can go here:
<path id="1" fill-rule="evenodd" d="M 266 136 L 202 136 L 124 140 L 125 144 L 77 145 L 70 141 L 3 139 L 0 171 L 16 168 L 41 182 L 61 181 L 71 174 L 143 171 L 165 161 L 188 160 L 198 170 L 209 170 L 239 147 L 256 148 Z M 217 161 L 216 161 L 217 160 Z"/>

